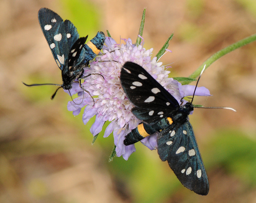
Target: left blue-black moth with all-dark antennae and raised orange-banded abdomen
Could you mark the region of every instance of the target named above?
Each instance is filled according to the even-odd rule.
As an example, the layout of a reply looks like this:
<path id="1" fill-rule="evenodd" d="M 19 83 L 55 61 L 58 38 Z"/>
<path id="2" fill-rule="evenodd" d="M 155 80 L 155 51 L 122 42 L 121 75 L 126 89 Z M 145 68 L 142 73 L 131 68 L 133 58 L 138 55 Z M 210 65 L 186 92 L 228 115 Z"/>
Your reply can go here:
<path id="1" fill-rule="evenodd" d="M 69 20 L 63 21 L 57 13 L 47 8 L 41 8 L 38 11 L 38 20 L 44 37 L 52 51 L 54 60 L 61 70 L 63 83 L 61 85 L 53 83 L 23 84 L 26 86 L 60 86 L 52 95 L 53 99 L 56 92 L 61 87 L 65 90 L 69 90 L 72 88 L 74 80 L 83 76 L 84 67 L 100 53 L 105 41 L 105 35 L 103 32 L 98 32 L 92 40 L 84 44 L 88 35 L 79 38 L 79 34 L 73 23 Z"/>

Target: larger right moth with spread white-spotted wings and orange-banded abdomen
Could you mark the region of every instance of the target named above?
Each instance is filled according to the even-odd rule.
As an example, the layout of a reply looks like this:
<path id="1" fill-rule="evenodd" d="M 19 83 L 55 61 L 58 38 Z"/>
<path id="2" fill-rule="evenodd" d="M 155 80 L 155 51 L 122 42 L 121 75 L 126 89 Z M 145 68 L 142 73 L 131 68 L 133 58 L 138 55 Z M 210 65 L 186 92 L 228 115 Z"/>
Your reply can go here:
<path id="1" fill-rule="evenodd" d="M 124 144 L 133 144 L 161 131 L 157 135 L 157 150 L 162 161 L 168 161 L 185 187 L 197 194 L 207 195 L 208 177 L 188 121 L 193 105 L 189 102 L 179 105 L 162 85 L 136 63 L 124 64 L 120 80 L 127 97 L 135 105 L 132 113 L 143 121 L 126 135 Z"/>

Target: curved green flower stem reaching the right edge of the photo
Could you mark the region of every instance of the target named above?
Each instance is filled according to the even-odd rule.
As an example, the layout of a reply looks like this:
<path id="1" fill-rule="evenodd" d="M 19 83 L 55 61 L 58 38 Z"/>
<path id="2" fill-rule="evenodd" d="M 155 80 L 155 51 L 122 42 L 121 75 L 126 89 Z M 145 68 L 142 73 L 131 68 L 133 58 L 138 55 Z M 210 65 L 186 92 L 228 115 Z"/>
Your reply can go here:
<path id="1" fill-rule="evenodd" d="M 210 56 L 206 61 L 204 61 L 203 64 L 201 66 L 199 66 L 198 69 L 196 69 L 196 71 L 188 77 L 190 77 L 190 78 L 198 77 L 200 75 L 202 69 L 204 68 L 205 64 L 206 64 L 205 69 L 207 69 L 213 62 L 218 60 L 220 57 L 224 56 L 225 54 L 228 54 L 231 51 L 234 51 L 237 48 L 243 47 L 244 45 L 247 45 L 255 40 L 256 40 L 256 34 L 253 34 L 250 37 L 244 38 L 243 40 L 240 40 L 240 41 L 238 41 L 234 44 L 231 44 L 230 46 L 216 52 L 215 54 Z M 182 82 L 182 84 L 188 84 L 188 83 L 190 83 L 190 82 Z"/>

